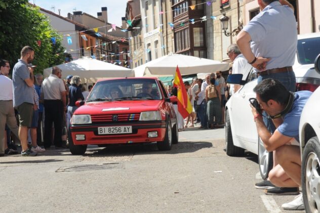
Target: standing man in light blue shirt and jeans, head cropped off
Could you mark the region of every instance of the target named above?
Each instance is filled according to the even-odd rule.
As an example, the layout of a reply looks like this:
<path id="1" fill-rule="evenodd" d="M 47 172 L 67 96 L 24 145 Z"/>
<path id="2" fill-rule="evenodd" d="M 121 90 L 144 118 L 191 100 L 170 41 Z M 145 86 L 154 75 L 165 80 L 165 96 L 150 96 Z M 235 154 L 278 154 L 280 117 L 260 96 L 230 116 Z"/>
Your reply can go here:
<path id="1" fill-rule="evenodd" d="M 287 0 L 257 0 L 261 12 L 237 35 L 236 44 L 259 74 L 258 83 L 276 79 L 295 92 L 296 77 L 292 65 L 297 51 L 297 23 L 294 7 Z M 275 131 L 271 119 L 263 119 L 269 132 Z M 278 163 L 274 160 L 273 167 Z M 268 182 L 256 187 L 269 187 Z M 287 194 L 287 188 L 273 187 L 267 194 Z"/>

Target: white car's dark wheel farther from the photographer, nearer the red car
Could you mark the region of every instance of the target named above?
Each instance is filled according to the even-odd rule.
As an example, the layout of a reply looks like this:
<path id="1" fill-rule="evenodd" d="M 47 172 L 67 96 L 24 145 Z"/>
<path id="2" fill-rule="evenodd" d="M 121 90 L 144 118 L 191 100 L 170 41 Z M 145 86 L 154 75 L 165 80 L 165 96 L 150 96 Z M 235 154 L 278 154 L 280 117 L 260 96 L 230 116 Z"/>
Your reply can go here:
<path id="1" fill-rule="evenodd" d="M 226 111 L 225 122 L 225 149 L 228 156 L 239 156 L 245 154 L 245 150 L 233 145 L 229 110 Z"/>

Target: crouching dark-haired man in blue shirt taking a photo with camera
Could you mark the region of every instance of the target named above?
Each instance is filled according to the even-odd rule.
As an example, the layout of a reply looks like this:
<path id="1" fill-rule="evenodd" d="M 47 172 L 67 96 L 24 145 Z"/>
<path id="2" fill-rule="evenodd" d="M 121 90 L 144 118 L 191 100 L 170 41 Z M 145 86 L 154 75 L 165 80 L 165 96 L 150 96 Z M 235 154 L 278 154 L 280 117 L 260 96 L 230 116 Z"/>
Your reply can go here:
<path id="1" fill-rule="evenodd" d="M 312 94 L 310 91 L 289 92 L 277 80 L 265 79 L 255 88 L 256 99 L 250 100 L 258 134 L 268 152 L 274 152 L 274 166 L 268 180 L 274 188 L 266 194 L 278 194 L 286 187 L 287 194 L 299 194 L 301 186 L 301 154 L 299 145 L 299 122 L 302 109 Z M 262 111 L 272 119 L 276 130 L 271 134 L 263 122 Z M 275 187 L 276 186 L 276 187 Z M 302 194 L 282 205 L 288 210 L 304 209 Z"/>

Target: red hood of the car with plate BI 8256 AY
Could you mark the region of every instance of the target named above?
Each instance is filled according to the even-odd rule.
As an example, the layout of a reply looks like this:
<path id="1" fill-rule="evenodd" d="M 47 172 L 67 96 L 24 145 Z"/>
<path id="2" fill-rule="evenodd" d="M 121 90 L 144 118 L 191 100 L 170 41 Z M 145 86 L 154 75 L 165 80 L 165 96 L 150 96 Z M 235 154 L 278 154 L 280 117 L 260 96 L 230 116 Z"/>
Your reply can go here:
<path id="1" fill-rule="evenodd" d="M 123 101 L 99 101 L 85 103 L 74 114 L 129 114 L 145 111 L 157 111 L 164 100 L 123 100 Z"/>

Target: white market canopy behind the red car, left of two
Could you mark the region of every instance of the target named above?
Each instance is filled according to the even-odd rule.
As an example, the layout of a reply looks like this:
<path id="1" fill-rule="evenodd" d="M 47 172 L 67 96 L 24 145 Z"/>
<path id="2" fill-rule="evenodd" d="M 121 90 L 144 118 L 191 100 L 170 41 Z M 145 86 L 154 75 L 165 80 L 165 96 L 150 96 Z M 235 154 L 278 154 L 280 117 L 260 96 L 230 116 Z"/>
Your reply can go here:
<path id="1" fill-rule="evenodd" d="M 93 58 L 80 58 L 57 65 L 62 70 L 62 78 L 68 75 L 79 76 L 83 83 L 95 83 L 98 79 L 134 77 L 134 71 L 123 66 L 99 61 Z M 52 67 L 44 69 L 44 77 L 51 74 Z"/>

